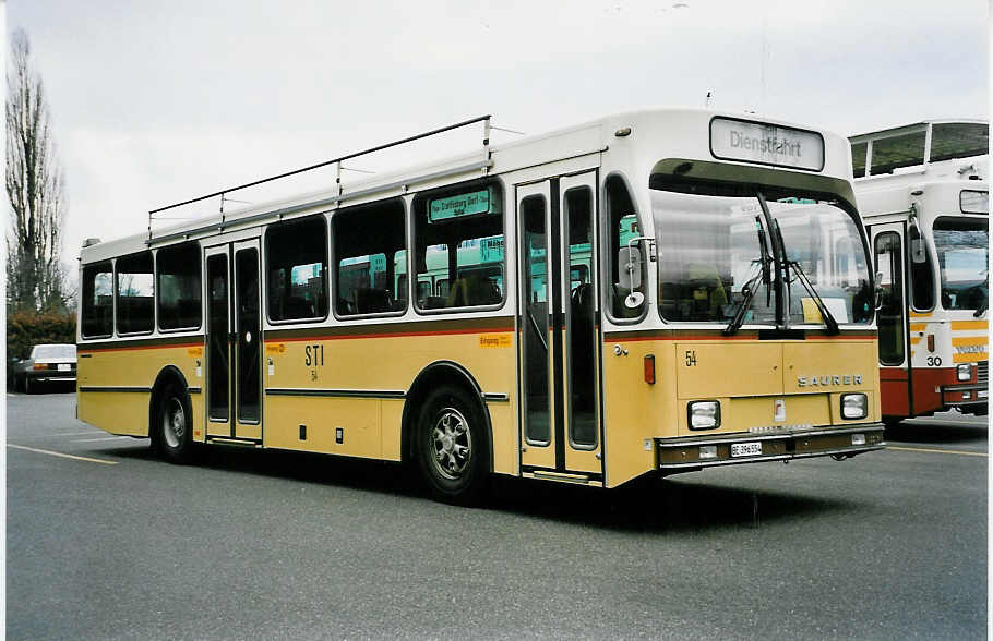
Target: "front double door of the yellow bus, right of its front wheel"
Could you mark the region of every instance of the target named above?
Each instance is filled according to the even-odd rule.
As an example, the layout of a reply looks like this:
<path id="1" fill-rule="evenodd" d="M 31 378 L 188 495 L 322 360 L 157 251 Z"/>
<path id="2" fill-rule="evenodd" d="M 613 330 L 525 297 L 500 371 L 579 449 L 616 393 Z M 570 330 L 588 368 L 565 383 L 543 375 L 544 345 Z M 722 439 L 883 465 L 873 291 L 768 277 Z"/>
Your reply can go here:
<path id="1" fill-rule="evenodd" d="M 596 172 L 516 192 L 522 469 L 600 476 Z"/>

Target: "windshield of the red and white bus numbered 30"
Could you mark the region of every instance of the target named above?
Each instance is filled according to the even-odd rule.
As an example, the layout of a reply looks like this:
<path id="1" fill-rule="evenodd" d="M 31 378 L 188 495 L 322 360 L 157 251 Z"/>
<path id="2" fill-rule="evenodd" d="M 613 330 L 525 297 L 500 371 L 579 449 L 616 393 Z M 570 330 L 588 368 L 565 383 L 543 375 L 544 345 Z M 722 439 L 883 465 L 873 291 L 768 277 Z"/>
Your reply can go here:
<path id="1" fill-rule="evenodd" d="M 979 218 L 940 216 L 934 221 L 934 249 L 942 276 L 942 306 L 978 310 L 989 300 L 990 222 Z"/>

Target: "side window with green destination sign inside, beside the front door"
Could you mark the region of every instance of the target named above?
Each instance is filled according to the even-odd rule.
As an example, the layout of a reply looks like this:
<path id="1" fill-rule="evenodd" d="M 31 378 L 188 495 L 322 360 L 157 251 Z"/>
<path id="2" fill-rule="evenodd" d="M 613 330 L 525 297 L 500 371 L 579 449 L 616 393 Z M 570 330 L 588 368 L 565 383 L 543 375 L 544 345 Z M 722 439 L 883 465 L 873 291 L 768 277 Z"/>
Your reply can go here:
<path id="1" fill-rule="evenodd" d="M 463 184 L 415 198 L 418 309 L 503 302 L 502 202 L 503 192 L 492 182 Z M 424 290 L 421 283 L 427 283 Z"/>

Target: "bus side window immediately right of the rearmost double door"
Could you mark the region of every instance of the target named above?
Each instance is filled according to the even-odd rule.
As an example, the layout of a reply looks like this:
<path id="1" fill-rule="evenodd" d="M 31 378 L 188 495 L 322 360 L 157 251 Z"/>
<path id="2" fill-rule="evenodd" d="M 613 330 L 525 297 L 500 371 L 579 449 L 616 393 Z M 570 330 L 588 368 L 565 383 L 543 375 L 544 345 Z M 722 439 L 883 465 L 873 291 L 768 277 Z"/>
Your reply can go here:
<path id="1" fill-rule="evenodd" d="M 327 315 L 327 227 L 308 216 L 268 228 L 265 234 L 270 320 Z"/>

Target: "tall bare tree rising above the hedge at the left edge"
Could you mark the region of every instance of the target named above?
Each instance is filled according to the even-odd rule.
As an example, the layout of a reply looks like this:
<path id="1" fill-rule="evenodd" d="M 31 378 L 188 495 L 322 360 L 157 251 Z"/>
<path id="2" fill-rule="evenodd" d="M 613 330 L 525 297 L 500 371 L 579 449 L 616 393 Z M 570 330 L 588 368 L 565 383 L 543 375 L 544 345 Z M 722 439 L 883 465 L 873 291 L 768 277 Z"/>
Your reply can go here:
<path id="1" fill-rule="evenodd" d="M 51 117 L 27 34 L 10 39 L 7 72 L 8 309 L 63 311 L 61 256 L 64 177 L 51 140 Z"/>

